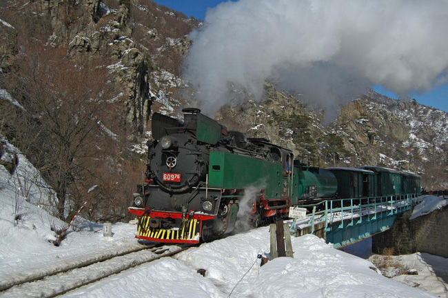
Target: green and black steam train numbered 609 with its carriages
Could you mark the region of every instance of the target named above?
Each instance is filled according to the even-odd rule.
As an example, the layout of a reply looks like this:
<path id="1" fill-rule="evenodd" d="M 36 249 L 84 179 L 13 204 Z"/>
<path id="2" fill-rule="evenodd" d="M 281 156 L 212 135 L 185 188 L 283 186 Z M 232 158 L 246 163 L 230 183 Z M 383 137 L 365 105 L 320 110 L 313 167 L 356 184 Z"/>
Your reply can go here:
<path id="1" fill-rule="evenodd" d="M 375 166 L 321 168 L 264 138 L 227 130 L 197 108 L 183 121 L 154 113 L 144 183 L 128 211 L 136 238 L 197 244 L 336 198 L 420 193 L 420 176 Z"/>

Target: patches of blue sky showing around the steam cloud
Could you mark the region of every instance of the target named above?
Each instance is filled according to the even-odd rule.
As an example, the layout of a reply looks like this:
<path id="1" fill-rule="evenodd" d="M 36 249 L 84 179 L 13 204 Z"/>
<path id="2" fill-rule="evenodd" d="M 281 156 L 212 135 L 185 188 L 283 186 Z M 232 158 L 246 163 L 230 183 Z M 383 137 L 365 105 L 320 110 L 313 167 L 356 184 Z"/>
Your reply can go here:
<path id="1" fill-rule="evenodd" d="M 232 0 L 236 1 L 236 0 Z M 195 17 L 196 19 L 204 20 L 207 8 L 214 8 L 221 2 L 227 2 L 222 0 L 156 0 L 163 6 L 167 6 L 174 10 L 183 12 L 187 17 Z M 372 86 L 374 90 L 387 97 L 398 99 L 396 93 L 387 90 L 383 86 Z M 407 95 L 412 99 L 416 99 L 418 103 L 425 106 L 431 106 L 440 110 L 448 112 L 448 83 L 442 86 L 436 86 L 433 90 L 428 90 L 422 93 L 412 92 Z"/>

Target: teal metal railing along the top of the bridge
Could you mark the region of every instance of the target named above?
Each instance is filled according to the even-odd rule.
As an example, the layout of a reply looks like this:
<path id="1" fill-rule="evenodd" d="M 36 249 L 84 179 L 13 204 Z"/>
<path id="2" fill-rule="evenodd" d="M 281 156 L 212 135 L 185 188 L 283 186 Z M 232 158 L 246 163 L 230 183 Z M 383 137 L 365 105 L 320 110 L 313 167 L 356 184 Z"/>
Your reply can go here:
<path id="1" fill-rule="evenodd" d="M 402 196 L 337 199 L 321 201 L 314 205 L 297 206 L 312 208 L 312 212 L 309 212 L 305 219 L 301 219 L 300 221 L 294 220 L 290 230 L 295 232 L 297 225 L 311 225 L 311 233 L 314 234 L 314 225 L 322 221 L 325 221 L 325 231 L 329 231 L 329 226 L 334 226 L 335 224 L 338 224 L 338 228 L 343 228 L 344 224 L 346 226 L 354 226 L 366 220 L 372 221 L 380 217 L 396 215 L 410 210 L 416 204 L 417 199 L 418 195 L 409 194 Z"/>

